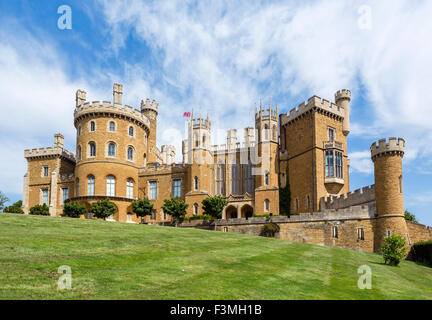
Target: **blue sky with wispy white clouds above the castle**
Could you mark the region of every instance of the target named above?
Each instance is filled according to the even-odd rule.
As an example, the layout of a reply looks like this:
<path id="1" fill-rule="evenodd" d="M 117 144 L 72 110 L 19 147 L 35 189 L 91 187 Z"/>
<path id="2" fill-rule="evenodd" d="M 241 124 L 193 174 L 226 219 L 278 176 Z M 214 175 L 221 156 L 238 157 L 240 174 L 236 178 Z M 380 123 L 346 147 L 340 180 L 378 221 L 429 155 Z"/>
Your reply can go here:
<path id="1" fill-rule="evenodd" d="M 72 29 L 60 30 L 60 5 Z M 21 199 L 23 150 L 62 132 L 74 151 L 75 91 L 159 102 L 158 142 L 180 160 L 183 112 L 210 114 L 214 143 L 253 125 L 253 107 L 288 112 L 352 91 L 351 190 L 373 184 L 370 145 L 406 140 L 405 207 L 432 225 L 432 2 L 0 1 L 0 190 Z M 222 132 L 222 133 L 220 133 Z M 183 135 L 183 137 L 182 137 Z"/>

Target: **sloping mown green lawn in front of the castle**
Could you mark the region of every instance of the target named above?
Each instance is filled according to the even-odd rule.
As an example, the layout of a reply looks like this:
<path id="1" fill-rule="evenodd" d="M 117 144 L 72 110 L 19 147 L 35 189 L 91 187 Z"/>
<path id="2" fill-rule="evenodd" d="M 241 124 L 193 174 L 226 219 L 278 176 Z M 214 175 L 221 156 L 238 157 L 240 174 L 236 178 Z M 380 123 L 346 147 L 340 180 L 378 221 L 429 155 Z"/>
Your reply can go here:
<path id="1" fill-rule="evenodd" d="M 371 290 L 357 268 L 372 268 Z M 72 268 L 72 289 L 56 273 Z M 431 299 L 432 268 L 233 233 L 0 214 L 0 299 Z"/>

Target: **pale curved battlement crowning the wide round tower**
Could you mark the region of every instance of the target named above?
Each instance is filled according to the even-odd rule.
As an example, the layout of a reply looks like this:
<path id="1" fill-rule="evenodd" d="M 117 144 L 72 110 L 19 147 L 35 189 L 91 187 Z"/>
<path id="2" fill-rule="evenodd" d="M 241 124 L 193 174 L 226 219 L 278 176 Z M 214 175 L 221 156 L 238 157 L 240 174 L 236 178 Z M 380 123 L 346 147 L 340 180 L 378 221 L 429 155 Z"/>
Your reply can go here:
<path id="1" fill-rule="evenodd" d="M 150 128 L 150 120 L 145 115 L 143 115 L 140 110 L 134 109 L 128 105 L 125 105 L 124 107 L 121 105 L 112 105 L 110 101 L 85 102 L 76 107 L 74 111 L 75 126 L 77 126 L 79 119 L 93 114 L 115 114 L 117 116 L 126 117 L 132 121 L 140 123 L 147 129 L 147 131 Z"/>

